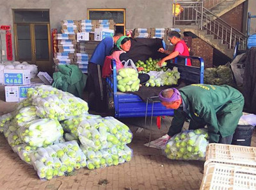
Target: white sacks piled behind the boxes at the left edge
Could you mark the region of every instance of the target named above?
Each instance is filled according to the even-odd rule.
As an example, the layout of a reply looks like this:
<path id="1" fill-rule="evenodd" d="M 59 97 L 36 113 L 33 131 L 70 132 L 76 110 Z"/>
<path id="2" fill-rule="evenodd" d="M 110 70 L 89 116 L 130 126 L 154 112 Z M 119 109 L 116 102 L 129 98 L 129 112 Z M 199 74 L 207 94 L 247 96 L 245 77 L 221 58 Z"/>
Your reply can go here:
<path id="1" fill-rule="evenodd" d="M 0 84 L 4 83 L 4 69 L 28 69 L 30 70 L 30 78 L 33 79 L 38 73 L 38 68 L 36 65 L 30 65 L 26 61 L 20 63 L 19 61 L 4 62 L 0 63 Z"/>

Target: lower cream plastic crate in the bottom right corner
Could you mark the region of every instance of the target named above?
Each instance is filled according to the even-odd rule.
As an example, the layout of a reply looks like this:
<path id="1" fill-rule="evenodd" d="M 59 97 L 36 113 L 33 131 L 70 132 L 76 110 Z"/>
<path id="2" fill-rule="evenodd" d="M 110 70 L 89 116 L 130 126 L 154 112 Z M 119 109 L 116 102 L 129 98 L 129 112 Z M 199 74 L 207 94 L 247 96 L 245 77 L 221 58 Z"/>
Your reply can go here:
<path id="1" fill-rule="evenodd" d="M 256 168 L 209 163 L 205 167 L 200 190 L 256 189 Z"/>

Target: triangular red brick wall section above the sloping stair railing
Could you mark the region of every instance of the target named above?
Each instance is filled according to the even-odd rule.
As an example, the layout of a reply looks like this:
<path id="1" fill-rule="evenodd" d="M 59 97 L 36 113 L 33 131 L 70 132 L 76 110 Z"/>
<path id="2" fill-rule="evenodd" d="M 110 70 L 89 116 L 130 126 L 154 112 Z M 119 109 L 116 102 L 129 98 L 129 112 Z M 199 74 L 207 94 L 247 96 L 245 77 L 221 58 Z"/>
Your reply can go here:
<path id="1" fill-rule="evenodd" d="M 243 14 L 244 3 L 239 4 L 236 8 L 233 8 L 229 12 L 222 15 L 220 18 L 225 20 L 230 26 L 243 32 Z"/>

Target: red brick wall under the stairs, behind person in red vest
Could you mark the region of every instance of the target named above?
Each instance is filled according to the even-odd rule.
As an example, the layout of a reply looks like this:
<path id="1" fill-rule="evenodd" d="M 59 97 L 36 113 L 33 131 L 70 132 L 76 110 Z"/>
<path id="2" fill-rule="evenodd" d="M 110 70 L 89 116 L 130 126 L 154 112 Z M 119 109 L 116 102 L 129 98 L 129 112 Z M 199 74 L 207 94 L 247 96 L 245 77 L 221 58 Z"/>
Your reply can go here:
<path id="1" fill-rule="evenodd" d="M 191 56 L 200 56 L 204 59 L 205 68 L 212 67 L 213 47 L 200 38 L 192 39 Z M 193 66 L 199 67 L 199 61 L 193 60 Z"/>

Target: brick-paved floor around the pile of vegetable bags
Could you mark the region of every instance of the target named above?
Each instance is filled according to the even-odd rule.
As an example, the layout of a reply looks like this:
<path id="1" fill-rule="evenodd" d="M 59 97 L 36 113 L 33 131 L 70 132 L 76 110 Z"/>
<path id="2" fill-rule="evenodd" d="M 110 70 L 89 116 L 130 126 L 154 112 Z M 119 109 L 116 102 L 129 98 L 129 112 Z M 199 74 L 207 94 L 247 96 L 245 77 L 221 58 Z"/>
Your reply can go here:
<path id="1" fill-rule="evenodd" d="M 3 100 L 3 86 L 0 86 L 0 115 L 12 111 L 15 105 Z M 161 150 L 143 146 L 148 142 L 148 126 L 145 132 L 136 133 L 136 130 L 144 126 L 144 118 L 126 118 L 121 121 L 126 123 L 134 134 L 132 143 L 128 145 L 134 154 L 131 162 L 93 171 L 80 169 L 74 171 L 71 176 L 54 178 L 49 181 L 41 181 L 33 167 L 21 161 L 19 156 L 13 153 L 3 134 L 0 134 L 0 190 L 198 190 L 200 188 L 204 162 L 171 161 L 164 157 Z M 156 120 L 154 120 L 155 123 Z M 152 139 L 166 134 L 169 126 L 170 118 L 162 120 L 160 130 L 154 125 Z M 256 146 L 255 134 L 252 146 Z M 108 180 L 109 183 L 99 185 L 99 181 L 103 179 Z"/>

